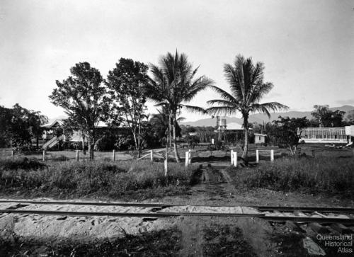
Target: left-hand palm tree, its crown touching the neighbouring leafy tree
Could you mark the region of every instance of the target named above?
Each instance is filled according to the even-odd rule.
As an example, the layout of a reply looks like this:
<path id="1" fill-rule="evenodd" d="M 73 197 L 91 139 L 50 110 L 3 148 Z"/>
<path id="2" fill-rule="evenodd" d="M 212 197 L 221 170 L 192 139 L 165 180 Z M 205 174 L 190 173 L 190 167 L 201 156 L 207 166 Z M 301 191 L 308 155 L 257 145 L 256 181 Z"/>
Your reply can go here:
<path id="1" fill-rule="evenodd" d="M 181 161 L 178 156 L 176 144 L 176 124 L 177 113 L 181 108 L 193 112 L 205 113 L 203 108 L 192 105 L 185 105 L 190 102 L 194 96 L 212 85 L 212 80 L 205 76 L 195 79 L 198 67 L 193 69 L 188 62 L 187 55 L 175 55 L 170 52 L 159 59 L 159 66 L 151 64 L 152 79 L 147 85 L 147 96 L 158 103 L 157 105 L 166 105 L 169 108 L 169 114 L 173 122 L 173 149 L 176 161 Z"/>

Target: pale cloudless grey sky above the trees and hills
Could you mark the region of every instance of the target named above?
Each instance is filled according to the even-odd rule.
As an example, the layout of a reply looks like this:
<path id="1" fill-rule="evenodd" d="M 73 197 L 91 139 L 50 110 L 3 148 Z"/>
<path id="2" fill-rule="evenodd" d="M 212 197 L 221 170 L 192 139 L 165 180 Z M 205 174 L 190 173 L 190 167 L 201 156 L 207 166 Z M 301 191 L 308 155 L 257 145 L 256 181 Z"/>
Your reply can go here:
<path id="1" fill-rule="evenodd" d="M 89 62 L 105 77 L 120 57 L 158 64 L 176 50 L 224 90 L 223 66 L 236 55 L 263 62 L 274 84 L 264 103 L 354 105 L 352 0 L 0 0 L 0 35 L 0 105 L 49 118 L 64 114 L 48 96 L 74 64 Z M 190 105 L 215 98 L 208 89 Z"/>

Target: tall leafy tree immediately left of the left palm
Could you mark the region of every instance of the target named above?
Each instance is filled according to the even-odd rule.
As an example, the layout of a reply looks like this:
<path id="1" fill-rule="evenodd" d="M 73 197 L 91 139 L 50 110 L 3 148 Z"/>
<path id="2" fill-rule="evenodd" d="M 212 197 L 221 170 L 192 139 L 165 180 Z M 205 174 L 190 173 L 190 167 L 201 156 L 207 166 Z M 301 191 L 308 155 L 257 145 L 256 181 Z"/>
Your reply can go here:
<path id="1" fill-rule="evenodd" d="M 120 58 L 115 68 L 108 73 L 105 84 L 110 89 L 110 102 L 115 110 L 115 120 L 130 128 L 134 149 L 140 156 L 142 147 L 142 121 L 147 118 L 144 85 L 147 84 L 148 67 L 142 62 Z M 120 114 L 123 117 L 120 117 Z"/>

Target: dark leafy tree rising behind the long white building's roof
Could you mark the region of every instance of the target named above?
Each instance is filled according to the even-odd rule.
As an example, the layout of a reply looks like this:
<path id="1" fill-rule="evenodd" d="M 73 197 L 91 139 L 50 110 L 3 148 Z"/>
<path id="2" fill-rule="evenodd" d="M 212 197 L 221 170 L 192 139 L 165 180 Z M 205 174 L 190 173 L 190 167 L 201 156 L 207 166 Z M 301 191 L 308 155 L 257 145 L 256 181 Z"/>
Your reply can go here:
<path id="1" fill-rule="evenodd" d="M 314 121 L 321 127 L 342 127 L 343 116 L 346 112 L 329 110 L 329 105 L 314 105 L 311 113 Z"/>

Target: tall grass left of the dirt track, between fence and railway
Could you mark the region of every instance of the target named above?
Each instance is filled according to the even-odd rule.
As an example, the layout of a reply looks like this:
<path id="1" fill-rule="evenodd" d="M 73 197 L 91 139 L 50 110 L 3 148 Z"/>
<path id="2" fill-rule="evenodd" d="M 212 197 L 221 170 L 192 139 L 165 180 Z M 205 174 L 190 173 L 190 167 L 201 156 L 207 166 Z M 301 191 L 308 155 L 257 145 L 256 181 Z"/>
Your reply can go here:
<path id="1" fill-rule="evenodd" d="M 3 193 L 30 190 L 37 195 L 104 195 L 121 197 L 143 190 L 178 193 L 195 183 L 197 169 L 180 164 L 169 164 L 168 176 L 164 176 L 164 164 L 150 161 L 65 161 L 33 164 L 24 169 L 22 159 L 1 162 L 0 190 Z M 6 165 L 5 165 L 6 164 Z M 13 169 L 8 169 L 12 167 Z M 27 166 L 25 166 L 27 168 Z M 149 192 L 150 196 L 151 192 Z"/>

